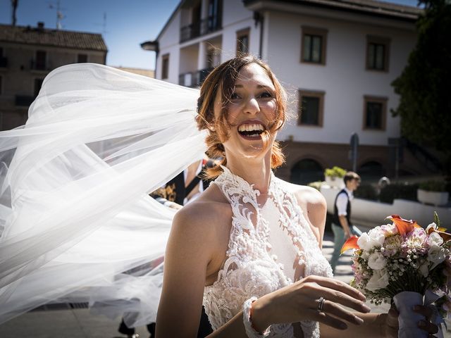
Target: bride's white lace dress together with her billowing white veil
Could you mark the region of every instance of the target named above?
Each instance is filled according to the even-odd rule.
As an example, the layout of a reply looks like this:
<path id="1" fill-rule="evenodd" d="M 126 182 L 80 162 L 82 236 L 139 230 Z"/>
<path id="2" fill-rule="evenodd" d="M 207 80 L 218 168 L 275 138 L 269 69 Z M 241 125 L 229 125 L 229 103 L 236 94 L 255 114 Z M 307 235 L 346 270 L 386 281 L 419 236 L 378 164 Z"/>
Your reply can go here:
<path id="1" fill-rule="evenodd" d="M 63 301 L 89 301 L 111 318 L 127 313 L 128 326 L 155 320 L 174 211 L 147 194 L 204 156 L 198 96 L 97 64 L 46 77 L 26 125 L 0 132 L 0 323 Z M 227 169 L 215 184 L 234 219 L 228 259 L 205 288 L 214 328 L 250 296 L 331 274 L 285 183 L 271 178 L 265 206 Z M 305 337 L 318 336 L 316 323 L 301 324 Z M 291 330 L 273 325 L 271 334 Z"/>

